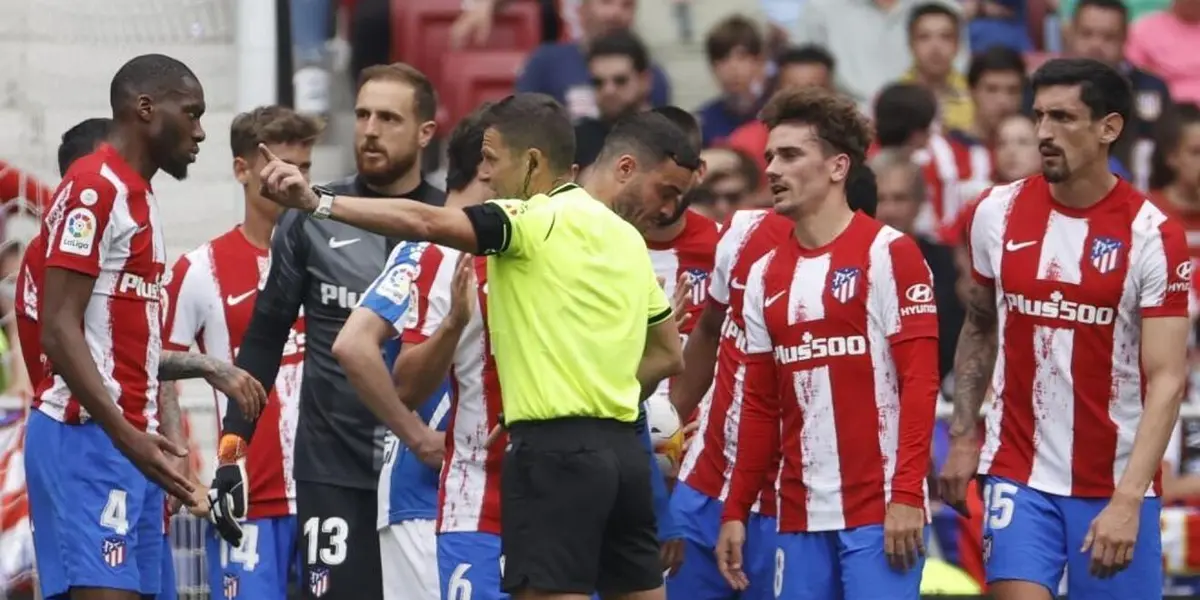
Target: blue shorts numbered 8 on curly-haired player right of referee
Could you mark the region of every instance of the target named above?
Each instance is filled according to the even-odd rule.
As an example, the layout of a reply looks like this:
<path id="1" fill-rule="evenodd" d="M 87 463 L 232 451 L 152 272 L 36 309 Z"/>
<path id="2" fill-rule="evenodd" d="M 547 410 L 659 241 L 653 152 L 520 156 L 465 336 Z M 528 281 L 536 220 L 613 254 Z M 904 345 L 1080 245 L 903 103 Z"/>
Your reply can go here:
<path id="1" fill-rule="evenodd" d="M 929 527 L 925 539 L 929 539 Z M 924 568 L 924 557 L 906 571 L 888 564 L 883 553 L 883 526 L 780 533 L 775 552 L 775 598 L 918 600 Z"/>

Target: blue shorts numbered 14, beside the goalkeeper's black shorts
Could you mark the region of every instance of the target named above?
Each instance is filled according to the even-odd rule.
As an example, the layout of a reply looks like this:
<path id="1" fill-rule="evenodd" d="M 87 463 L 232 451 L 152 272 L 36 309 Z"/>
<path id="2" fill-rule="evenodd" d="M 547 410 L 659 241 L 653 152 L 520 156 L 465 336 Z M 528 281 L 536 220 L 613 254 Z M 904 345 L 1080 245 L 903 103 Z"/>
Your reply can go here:
<path id="1" fill-rule="evenodd" d="M 212 596 L 287 599 L 288 582 L 300 572 L 296 517 L 252 518 L 241 523 L 241 546 L 235 548 L 216 528 L 208 528 L 204 550 Z"/>

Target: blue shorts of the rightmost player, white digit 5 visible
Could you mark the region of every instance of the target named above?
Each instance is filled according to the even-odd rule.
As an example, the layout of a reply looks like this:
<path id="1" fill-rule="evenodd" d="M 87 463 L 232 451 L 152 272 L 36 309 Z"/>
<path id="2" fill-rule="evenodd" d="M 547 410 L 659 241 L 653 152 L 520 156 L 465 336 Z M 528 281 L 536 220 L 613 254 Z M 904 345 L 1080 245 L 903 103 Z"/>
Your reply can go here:
<path id="1" fill-rule="evenodd" d="M 988 582 L 1004 580 L 1040 583 L 1058 593 L 1063 569 L 1072 598 L 1162 598 L 1163 538 L 1158 527 L 1163 504 L 1141 503 L 1133 564 L 1116 576 L 1099 580 L 1088 570 L 1091 553 L 1080 552 L 1092 521 L 1108 498 L 1054 496 L 1015 481 L 984 478 L 983 556 Z"/>

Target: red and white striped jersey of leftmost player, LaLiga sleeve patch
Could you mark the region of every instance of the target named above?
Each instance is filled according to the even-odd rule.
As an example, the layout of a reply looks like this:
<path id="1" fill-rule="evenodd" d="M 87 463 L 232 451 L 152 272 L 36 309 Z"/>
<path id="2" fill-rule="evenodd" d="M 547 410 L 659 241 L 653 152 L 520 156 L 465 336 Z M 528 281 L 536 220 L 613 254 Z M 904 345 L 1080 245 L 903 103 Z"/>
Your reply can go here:
<path id="1" fill-rule="evenodd" d="M 80 324 L 84 341 L 125 418 L 138 430 L 157 431 L 167 252 L 150 184 L 113 146 L 102 144 L 67 170 L 42 236 L 47 269 L 96 278 Z M 40 305 L 44 294 L 43 286 Z M 53 365 L 34 406 L 62 422 L 89 419 Z"/>

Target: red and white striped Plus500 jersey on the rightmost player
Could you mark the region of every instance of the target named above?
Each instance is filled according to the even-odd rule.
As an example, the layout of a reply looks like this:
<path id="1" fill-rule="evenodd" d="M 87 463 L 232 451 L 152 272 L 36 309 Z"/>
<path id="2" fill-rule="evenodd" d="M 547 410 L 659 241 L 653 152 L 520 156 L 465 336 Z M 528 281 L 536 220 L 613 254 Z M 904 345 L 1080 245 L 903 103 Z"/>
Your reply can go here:
<path id="1" fill-rule="evenodd" d="M 1111 497 L 1141 419 L 1141 322 L 1188 314 L 1183 227 L 1123 180 L 1073 209 L 1037 175 L 983 196 L 970 248 L 1000 316 L 979 473 Z"/>

